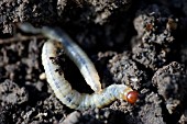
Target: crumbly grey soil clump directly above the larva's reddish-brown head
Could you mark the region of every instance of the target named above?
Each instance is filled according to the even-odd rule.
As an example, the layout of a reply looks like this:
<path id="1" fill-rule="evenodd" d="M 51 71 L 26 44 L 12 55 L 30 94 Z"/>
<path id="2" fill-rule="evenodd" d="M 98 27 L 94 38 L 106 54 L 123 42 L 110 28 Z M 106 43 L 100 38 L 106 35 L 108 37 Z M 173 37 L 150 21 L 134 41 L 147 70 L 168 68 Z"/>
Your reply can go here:
<path id="1" fill-rule="evenodd" d="M 129 53 L 124 52 L 113 56 L 113 58 L 109 60 L 108 68 L 114 82 L 131 86 L 136 90 L 140 89 L 140 87 L 143 87 L 143 83 L 141 82 L 146 75 L 143 70 L 138 68 L 132 59 L 130 59 Z"/>

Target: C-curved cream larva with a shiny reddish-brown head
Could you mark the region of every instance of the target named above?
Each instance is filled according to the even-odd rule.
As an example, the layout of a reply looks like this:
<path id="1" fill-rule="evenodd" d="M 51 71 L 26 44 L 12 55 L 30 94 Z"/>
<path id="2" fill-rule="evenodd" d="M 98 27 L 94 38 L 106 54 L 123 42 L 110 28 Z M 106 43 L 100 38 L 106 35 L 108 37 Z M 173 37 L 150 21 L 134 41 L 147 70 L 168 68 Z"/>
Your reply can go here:
<path id="1" fill-rule="evenodd" d="M 62 49 L 58 42 L 48 41 L 44 44 L 42 50 L 42 63 L 46 72 L 47 82 L 54 90 L 56 97 L 68 108 L 76 110 L 87 110 L 102 108 L 116 99 L 123 99 L 130 103 L 135 103 L 138 99 L 136 91 L 133 91 L 125 84 L 111 84 L 101 92 L 87 94 L 79 93 L 72 89 L 70 83 L 64 78 L 64 74 L 57 71 L 59 66 L 52 58 L 57 57 L 57 52 Z"/>

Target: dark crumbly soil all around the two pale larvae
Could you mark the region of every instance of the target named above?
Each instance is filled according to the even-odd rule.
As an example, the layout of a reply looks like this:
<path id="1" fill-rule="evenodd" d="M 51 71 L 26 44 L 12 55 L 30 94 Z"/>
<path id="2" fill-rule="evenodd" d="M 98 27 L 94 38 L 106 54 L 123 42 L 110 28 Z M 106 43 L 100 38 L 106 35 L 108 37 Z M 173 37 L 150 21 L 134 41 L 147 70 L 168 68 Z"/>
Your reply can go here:
<path id="1" fill-rule="evenodd" d="M 20 22 L 66 31 L 94 61 L 102 88 L 128 84 L 140 92 L 138 102 L 65 106 L 44 77 L 46 38 L 19 31 Z M 186 124 L 186 0 L 1 0 L 0 124 Z M 73 88 L 91 93 L 63 56 Z"/>

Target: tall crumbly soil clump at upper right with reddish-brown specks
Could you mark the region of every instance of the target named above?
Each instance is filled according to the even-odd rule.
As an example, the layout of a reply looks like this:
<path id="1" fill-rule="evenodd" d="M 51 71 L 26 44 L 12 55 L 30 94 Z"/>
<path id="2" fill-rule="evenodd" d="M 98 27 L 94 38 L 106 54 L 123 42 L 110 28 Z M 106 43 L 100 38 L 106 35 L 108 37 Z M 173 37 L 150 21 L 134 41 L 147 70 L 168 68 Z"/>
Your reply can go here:
<path id="1" fill-rule="evenodd" d="M 138 36 L 133 41 L 133 59 L 153 70 L 166 63 L 170 50 L 169 45 L 174 42 L 172 32 L 176 30 L 177 25 L 177 19 L 170 19 L 169 11 L 163 12 L 162 9 L 166 10 L 156 4 L 150 5 L 145 10 L 139 11 L 134 19 Z"/>

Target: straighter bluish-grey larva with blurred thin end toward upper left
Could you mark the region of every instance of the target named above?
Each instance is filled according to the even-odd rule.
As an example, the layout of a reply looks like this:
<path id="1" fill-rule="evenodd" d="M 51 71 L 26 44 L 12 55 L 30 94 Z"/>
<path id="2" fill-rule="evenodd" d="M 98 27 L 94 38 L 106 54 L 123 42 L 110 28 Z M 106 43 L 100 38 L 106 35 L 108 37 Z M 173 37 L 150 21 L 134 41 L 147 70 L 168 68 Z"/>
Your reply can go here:
<path id="1" fill-rule="evenodd" d="M 90 88 L 95 92 L 101 91 L 101 83 L 99 81 L 100 79 L 94 64 L 85 54 L 85 52 L 77 44 L 75 44 L 65 32 L 59 29 L 54 30 L 47 26 L 36 29 L 33 27 L 30 23 L 19 24 L 19 27 L 26 33 L 42 33 L 51 40 L 61 42 L 63 46 L 65 46 L 65 53 L 76 64 Z"/>

